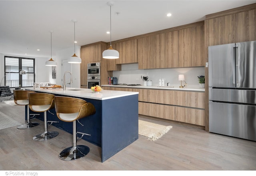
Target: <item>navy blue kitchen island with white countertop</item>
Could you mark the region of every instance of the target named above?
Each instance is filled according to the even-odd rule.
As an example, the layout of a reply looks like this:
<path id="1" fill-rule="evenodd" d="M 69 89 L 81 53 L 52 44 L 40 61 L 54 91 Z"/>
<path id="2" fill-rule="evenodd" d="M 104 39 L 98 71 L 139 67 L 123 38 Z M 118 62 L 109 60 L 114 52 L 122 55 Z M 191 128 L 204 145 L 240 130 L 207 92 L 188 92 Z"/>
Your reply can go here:
<path id="1" fill-rule="evenodd" d="M 84 136 L 83 139 L 101 147 L 102 162 L 138 139 L 138 92 L 102 90 L 93 93 L 90 89 L 83 88 L 66 88 L 66 90 L 26 88 L 26 90 L 81 98 L 92 103 L 96 113 L 79 119 L 84 126 L 78 123 L 77 131 L 91 134 Z M 58 121 L 52 125 L 72 134 L 72 123 L 59 120 L 55 109 L 50 112 L 47 112 L 47 120 Z M 43 113 L 40 113 L 38 118 L 43 120 Z"/>

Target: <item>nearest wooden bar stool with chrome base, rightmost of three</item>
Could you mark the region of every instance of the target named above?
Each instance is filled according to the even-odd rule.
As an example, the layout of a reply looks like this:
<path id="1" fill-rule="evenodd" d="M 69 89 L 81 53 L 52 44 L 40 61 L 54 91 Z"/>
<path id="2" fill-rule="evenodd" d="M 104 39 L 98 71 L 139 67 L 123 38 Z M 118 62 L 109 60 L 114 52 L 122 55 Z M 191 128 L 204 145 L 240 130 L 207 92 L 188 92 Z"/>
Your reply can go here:
<path id="1" fill-rule="evenodd" d="M 80 118 L 95 114 L 95 107 L 93 104 L 80 98 L 55 96 L 54 101 L 57 117 L 64 122 L 73 122 L 73 146 L 62 150 L 62 152 L 59 154 L 59 158 L 65 161 L 70 161 L 86 156 L 89 153 L 90 148 L 84 145 L 77 145 L 76 142 L 84 135 L 91 135 L 76 132 L 76 121 Z M 82 136 L 78 139 L 76 138 L 77 133 L 82 134 Z"/>

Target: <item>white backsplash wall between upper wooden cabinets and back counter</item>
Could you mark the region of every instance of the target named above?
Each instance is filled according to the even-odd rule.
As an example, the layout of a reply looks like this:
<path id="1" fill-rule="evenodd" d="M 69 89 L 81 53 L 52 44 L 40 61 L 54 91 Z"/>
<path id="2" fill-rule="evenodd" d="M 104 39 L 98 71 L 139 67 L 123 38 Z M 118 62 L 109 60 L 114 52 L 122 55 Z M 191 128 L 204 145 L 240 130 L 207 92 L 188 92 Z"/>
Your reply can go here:
<path id="1" fill-rule="evenodd" d="M 148 80 L 152 80 L 152 86 L 158 86 L 159 78 L 165 78 L 165 86 L 168 82 L 170 86 L 180 86 L 179 74 L 184 74 L 188 87 L 198 88 L 197 76 L 204 75 L 204 67 L 138 70 L 138 64 L 125 64 L 122 65 L 122 71 L 113 71 L 113 77 L 118 78 L 118 84 L 143 85 L 141 76 L 148 76 Z M 182 85 L 184 84 L 182 81 Z"/>

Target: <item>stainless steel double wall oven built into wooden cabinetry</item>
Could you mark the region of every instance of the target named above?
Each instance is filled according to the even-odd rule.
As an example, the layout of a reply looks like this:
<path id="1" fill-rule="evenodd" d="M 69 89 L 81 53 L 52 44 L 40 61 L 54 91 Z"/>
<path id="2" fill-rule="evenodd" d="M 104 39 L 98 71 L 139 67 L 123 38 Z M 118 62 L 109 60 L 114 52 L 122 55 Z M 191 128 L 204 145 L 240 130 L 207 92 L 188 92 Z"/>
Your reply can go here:
<path id="1" fill-rule="evenodd" d="M 100 62 L 87 64 L 87 88 L 100 86 Z"/>

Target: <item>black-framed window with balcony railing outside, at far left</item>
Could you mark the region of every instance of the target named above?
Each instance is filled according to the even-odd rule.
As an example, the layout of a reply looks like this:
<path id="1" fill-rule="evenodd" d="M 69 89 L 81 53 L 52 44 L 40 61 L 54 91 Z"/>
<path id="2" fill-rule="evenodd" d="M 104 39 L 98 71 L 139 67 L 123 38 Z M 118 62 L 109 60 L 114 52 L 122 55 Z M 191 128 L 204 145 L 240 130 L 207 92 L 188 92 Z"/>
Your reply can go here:
<path id="1" fill-rule="evenodd" d="M 4 85 L 10 88 L 32 87 L 35 82 L 34 68 L 34 58 L 4 56 Z M 21 70 L 24 70 L 26 74 L 20 74 Z"/>

